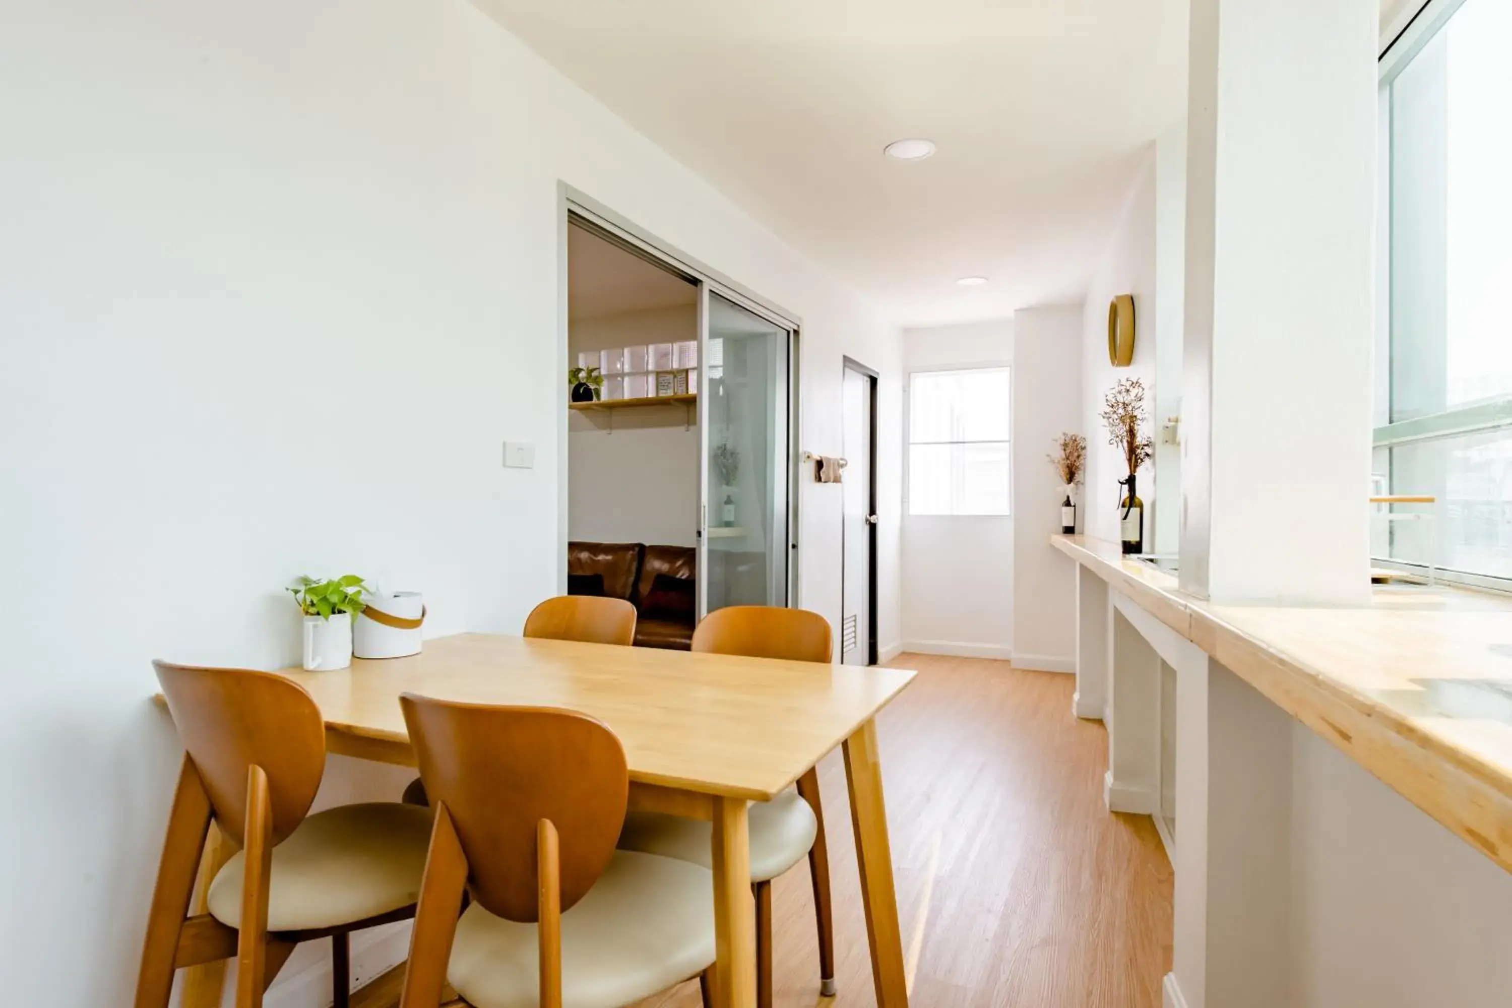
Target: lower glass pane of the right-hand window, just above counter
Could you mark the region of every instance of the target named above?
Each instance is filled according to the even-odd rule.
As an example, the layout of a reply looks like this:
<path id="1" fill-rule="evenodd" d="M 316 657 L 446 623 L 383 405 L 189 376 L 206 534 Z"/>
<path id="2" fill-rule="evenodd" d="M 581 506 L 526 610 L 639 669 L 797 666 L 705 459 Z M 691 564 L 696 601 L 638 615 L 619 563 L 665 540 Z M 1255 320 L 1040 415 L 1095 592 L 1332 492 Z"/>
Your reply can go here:
<path id="1" fill-rule="evenodd" d="M 1391 521 L 1391 559 L 1512 577 L 1512 431 L 1394 447 L 1391 491 L 1438 497 L 1394 508 L 1436 517 Z"/>

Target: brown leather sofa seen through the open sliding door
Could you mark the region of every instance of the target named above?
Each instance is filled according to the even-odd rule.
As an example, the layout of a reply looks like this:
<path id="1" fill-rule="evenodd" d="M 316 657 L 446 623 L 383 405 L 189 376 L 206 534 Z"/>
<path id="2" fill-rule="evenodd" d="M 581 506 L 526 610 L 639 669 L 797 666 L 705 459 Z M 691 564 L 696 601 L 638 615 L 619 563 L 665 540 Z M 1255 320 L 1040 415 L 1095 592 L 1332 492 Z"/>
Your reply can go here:
<path id="1" fill-rule="evenodd" d="M 567 591 L 637 609 L 635 645 L 686 651 L 697 624 L 697 552 L 686 546 L 569 543 Z"/>

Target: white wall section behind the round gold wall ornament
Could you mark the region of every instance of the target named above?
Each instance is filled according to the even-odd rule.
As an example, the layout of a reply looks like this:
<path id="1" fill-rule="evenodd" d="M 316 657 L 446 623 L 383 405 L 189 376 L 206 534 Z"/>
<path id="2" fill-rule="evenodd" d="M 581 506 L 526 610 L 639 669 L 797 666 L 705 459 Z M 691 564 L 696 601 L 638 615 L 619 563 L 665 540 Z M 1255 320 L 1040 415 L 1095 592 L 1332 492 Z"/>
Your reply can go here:
<path id="1" fill-rule="evenodd" d="M 1134 361 L 1128 367 L 1108 363 L 1108 302 L 1117 295 L 1134 295 Z M 1117 540 L 1117 481 L 1128 475 L 1123 453 L 1108 444 L 1108 429 L 1098 416 L 1102 399 L 1120 378 L 1145 382 L 1151 435 L 1155 429 L 1155 151 L 1151 147 L 1140 165 L 1123 212 L 1107 249 L 1087 286 L 1083 332 L 1081 416 L 1087 435 L 1087 478 L 1083 493 L 1081 527 L 1099 540 Z M 1145 540 L 1151 543 L 1155 521 L 1154 467 L 1139 473 L 1139 496 L 1145 500 Z"/>

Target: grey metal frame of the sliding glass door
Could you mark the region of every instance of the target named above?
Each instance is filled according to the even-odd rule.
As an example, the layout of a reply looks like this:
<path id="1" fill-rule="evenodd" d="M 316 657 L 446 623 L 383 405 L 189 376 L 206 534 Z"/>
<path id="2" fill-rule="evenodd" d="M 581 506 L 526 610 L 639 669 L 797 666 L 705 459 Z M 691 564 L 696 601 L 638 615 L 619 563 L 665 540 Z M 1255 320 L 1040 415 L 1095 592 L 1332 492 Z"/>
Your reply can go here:
<path id="1" fill-rule="evenodd" d="M 624 248 L 626 251 L 646 258 L 668 272 L 677 274 L 685 280 L 689 280 L 699 286 L 699 342 L 700 352 L 703 343 L 708 337 L 708 305 L 709 295 L 717 293 L 721 298 L 751 311 L 762 319 L 771 322 L 773 325 L 786 329 L 788 332 L 788 604 L 797 608 L 800 604 L 798 597 L 798 475 L 801 472 L 801 464 L 798 459 L 798 431 L 800 431 L 800 411 L 798 411 L 798 349 L 803 339 L 803 319 L 788 308 L 782 307 L 776 301 L 770 301 L 754 290 L 745 287 L 744 284 L 726 277 L 720 271 L 702 263 L 700 260 L 688 255 L 670 242 L 664 242 L 650 231 L 641 228 L 627 218 L 620 216 L 605 204 L 599 203 L 581 189 L 569 186 L 565 181 L 556 183 L 556 358 L 558 358 L 558 373 L 567 373 L 569 367 L 569 349 L 567 349 L 567 329 L 569 329 L 569 277 L 567 277 L 567 236 L 569 227 L 576 222 L 587 230 L 593 231 L 599 237 Z M 703 367 L 700 358 L 699 367 L 699 614 L 705 612 L 705 591 L 706 591 L 706 571 L 705 555 L 708 552 L 708 488 L 705 487 L 703 478 L 708 475 L 708 396 L 702 394 L 708 384 L 708 369 Z M 561 450 L 558 452 L 558 508 L 556 508 L 556 589 L 559 594 L 567 591 L 567 514 L 569 514 L 569 468 L 567 468 L 567 384 L 556 382 L 556 432 L 558 444 Z M 773 544 L 776 546 L 776 544 Z"/>

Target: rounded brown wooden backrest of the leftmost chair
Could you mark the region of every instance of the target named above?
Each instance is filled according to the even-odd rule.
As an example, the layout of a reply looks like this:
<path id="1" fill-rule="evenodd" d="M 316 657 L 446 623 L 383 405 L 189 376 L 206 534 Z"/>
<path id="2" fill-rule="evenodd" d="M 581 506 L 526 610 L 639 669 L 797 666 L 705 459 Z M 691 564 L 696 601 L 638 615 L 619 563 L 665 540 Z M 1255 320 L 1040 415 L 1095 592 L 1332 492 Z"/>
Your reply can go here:
<path id="1" fill-rule="evenodd" d="M 268 775 L 272 842 L 293 833 L 325 774 L 325 721 L 310 694 L 271 673 L 153 668 L 221 830 L 245 846 L 246 771 L 257 765 Z"/>

